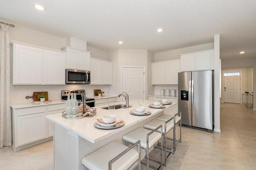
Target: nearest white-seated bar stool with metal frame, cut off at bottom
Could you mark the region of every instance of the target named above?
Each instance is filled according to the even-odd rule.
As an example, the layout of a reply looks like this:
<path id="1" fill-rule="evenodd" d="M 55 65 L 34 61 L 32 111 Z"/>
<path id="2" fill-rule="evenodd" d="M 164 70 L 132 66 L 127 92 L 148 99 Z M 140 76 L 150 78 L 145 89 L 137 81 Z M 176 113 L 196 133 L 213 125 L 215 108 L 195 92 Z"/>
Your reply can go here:
<path id="1" fill-rule="evenodd" d="M 138 150 L 134 149 L 137 145 Z M 124 170 L 136 161 L 140 170 L 140 140 L 130 147 L 113 141 L 82 158 L 82 164 L 90 170 Z"/>

